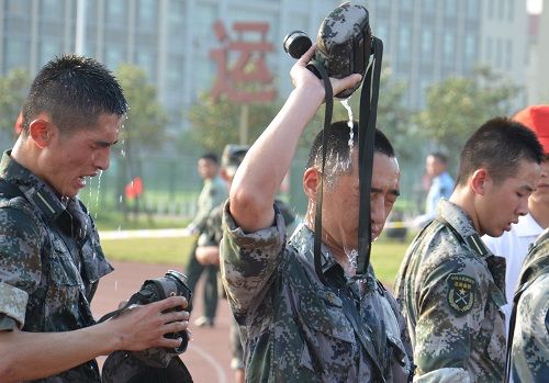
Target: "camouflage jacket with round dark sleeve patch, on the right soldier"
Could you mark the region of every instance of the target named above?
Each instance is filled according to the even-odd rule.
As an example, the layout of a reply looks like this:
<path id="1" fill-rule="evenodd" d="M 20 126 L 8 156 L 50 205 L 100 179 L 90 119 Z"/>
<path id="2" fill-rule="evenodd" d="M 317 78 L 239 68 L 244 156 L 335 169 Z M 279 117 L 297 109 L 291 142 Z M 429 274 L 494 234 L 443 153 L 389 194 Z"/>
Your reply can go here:
<path id="1" fill-rule="evenodd" d="M 461 209 L 441 201 L 395 284 L 419 382 L 503 382 L 504 286 L 505 259 L 488 250 Z"/>

